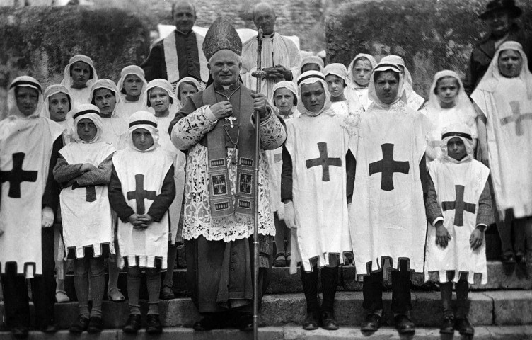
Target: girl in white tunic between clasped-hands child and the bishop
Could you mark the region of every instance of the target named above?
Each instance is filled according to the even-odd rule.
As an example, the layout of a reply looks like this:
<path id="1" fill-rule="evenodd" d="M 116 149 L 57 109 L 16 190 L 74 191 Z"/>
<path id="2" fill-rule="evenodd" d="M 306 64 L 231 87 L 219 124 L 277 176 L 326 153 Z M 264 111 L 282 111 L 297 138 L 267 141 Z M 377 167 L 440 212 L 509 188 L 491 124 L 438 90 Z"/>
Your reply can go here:
<path id="1" fill-rule="evenodd" d="M 193 78 L 184 78 L 193 79 Z M 197 82 L 197 81 L 196 81 Z M 178 83 L 177 89 L 183 83 Z M 199 86 L 199 84 L 198 84 Z M 183 228 L 183 191 L 185 190 L 185 154 L 176 149 L 170 140 L 168 126 L 180 109 L 178 98 L 175 98 L 172 91 L 172 84 L 166 79 L 154 79 L 146 86 L 146 98 L 148 106 L 154 110 L 154 116 L 157 120 L 159 130 L 159 145 L 166 150 L 174 159 L 174 181 L 175 191 L 177 192 L 175 200 L 169 209 L 170 239 L 168 240 L 168 270 L 164 273 L 163 289 L 161 290 L 161 299 L 170 300 L 174 298 L 173 293 L 173 270 L 175 260 L 178 256 L 178 243 L 182 242 L 181 229 Z"/>

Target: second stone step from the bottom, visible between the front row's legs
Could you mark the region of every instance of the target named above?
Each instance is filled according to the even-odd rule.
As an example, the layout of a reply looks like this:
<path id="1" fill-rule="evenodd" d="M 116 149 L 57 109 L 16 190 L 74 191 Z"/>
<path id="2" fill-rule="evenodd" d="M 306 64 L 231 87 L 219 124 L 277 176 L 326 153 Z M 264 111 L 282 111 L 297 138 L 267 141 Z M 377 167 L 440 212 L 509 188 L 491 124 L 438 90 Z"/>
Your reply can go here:
<path id="1" fill-rule="evenodd" d="M 438 327 L 441 320 L 441 300 L 438 292 L 412 292 L 412 319 L 420 327 Z M 456 297 L 454 297 L 456 299 Z M 383 294 L 383 324 L 393 325 L 391 293 Z M 475 325 L 532 324 L 532 292 L 525 290 L 470 292 L 469 319 Z M 364 319 L 361 292 L 338 292 L 335 315 L 342 325 L 357 326 Z M 0 319 L 3 304 L 0 304 Z M 147 311 L 147 304 L 141 304 Z M 56 319 L 61 329 L 67 329 L 78 317 L 76 302 L 55 305 Z M 161 301 L 161 322 L 166 327 L 191 327 L 200 316 L 189 298 Z M 261 326 L 287 323 L 301 324 L 306 304 L 303 293 L 265 295 L 260 310 Z M 122 327 L 129 314 L 127 302 L 103 302 L 104 327 Z"/>

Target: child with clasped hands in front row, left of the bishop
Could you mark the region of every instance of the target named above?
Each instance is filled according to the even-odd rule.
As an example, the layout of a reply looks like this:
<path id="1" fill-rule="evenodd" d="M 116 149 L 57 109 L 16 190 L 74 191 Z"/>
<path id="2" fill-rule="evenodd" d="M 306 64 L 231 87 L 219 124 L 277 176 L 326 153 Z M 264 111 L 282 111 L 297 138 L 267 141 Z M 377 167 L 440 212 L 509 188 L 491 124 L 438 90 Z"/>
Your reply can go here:
<path id="1" fill-rule="evenodd" d="M 168 208 L 175 198 L 173 159 L 159 147 L 157 121 L 149 112 L 131 116 L 127 143 L 112 159 L 109 191 L 119 217 L 120 266 L 127 264 L 129 319 L 123 330 L 134 334 L 140 328 L 140 274 L 145 268 L 149 297 L 146 333 L 160 334 L 161 270 L 166 270 Z"/>

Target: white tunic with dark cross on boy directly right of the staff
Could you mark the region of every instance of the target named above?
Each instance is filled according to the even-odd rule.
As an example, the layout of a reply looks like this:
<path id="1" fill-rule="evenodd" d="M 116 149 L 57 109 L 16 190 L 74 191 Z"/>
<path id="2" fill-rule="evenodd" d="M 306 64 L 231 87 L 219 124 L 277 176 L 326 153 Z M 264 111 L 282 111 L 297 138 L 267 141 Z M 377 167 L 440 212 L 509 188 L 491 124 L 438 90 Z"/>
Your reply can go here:
<path id="1" fill-rule="evenodd" d="M 318 259 L 318 267 L 329 266 L 330 255 L 340 255 L 341 259 L 343 253 L 352 251 L 345 185 L 349 136 L 340 125 L 344 118 L 329 109 L 316 117 L 300 115 L 287 120 L 285 146 L 293 166 L 298 226 L 293 238 L 295 261 L 301 260 L 306 271 L 312 271 L 311 259 Z M 321 156 L 331 159 L 326 168 Z"/>

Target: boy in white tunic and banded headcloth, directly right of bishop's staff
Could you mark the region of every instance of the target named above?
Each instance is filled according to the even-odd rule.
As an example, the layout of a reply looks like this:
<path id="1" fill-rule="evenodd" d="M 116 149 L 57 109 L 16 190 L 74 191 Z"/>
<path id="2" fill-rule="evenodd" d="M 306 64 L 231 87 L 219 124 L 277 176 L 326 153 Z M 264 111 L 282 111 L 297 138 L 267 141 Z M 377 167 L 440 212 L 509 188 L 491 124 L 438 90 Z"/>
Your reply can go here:
<path id="1" fill-rule="evenodd" d="M 317 329 L 320 325 L 335 330 L 338 324 L 333 305 L 338 264 L 342 254 L 352 251 L 345 167 L 349 136 L 341 125 L 345 116 L 330 106 L 323 74 L 308 71 L 297 82 L 301 115 L 287 120 L 282 154 L 284 220 L 297 230 L 293 249 L 301 261 L 307 302 L 303 329 Z M 323 289 L 321 308 L 317 299 L 318 268 Z"/>

